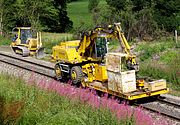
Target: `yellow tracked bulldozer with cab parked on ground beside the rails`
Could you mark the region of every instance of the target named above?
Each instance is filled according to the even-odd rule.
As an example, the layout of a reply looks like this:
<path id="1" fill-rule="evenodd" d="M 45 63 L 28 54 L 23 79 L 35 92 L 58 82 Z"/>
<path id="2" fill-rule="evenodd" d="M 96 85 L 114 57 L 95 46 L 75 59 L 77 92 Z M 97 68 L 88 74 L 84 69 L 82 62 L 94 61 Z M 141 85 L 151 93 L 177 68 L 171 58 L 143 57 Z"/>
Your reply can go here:
<path id="1" fill-rule="evenodd" d="M 16 34 L 10 46 L 16 54 L 24 57 L 29 55 L 35 55 L 36 58 L 44 57 L 40 32 L 33 32 L 31 27 L 15 27 L 13 33 Z"/>

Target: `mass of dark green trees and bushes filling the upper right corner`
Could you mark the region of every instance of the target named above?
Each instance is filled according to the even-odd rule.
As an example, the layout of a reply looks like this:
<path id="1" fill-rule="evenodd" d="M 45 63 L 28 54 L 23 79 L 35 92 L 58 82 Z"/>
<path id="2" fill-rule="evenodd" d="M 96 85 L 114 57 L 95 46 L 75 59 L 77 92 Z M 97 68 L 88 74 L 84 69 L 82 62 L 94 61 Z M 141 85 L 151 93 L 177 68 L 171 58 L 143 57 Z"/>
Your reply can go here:
<path id="1" fill-rule="evenodd" d="M 113 8 L 112 14 L 108 14 L 110 16 L 106 18 L 120 21 L 127 38 L 137 36 L 140 39 L 154 38 L 159 30 L 173 31 L 180 26 L 179 0 L 106 0 L 106 2 Z M 104 13 L 103 9 L 98 9 L 94 15 Z"/>

